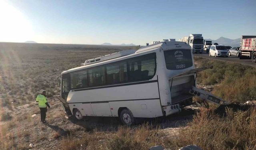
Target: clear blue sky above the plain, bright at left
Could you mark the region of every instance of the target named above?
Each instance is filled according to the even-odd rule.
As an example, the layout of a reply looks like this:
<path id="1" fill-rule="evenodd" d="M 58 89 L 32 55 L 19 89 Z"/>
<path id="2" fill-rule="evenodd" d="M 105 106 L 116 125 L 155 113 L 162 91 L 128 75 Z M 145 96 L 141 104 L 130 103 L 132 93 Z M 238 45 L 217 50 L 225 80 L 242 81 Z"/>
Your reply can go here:
<path id="1" fill-rule="evenodd" d="M 256 35 L 256 0 L 0 0 L 0 42 L 136 44 Z"/>

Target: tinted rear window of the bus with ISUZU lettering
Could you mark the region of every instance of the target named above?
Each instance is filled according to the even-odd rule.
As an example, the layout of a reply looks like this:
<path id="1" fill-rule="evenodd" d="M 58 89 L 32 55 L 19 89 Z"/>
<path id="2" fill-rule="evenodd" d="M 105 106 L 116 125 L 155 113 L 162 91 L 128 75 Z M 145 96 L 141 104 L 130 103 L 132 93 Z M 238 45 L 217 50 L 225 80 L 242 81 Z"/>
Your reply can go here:
<path id="1" fill-rule="evenodd" d="M 191 50 L 166 50 L 164 51 L 166 68 L 168 70 L 181 70 L 193 65 Z"/>

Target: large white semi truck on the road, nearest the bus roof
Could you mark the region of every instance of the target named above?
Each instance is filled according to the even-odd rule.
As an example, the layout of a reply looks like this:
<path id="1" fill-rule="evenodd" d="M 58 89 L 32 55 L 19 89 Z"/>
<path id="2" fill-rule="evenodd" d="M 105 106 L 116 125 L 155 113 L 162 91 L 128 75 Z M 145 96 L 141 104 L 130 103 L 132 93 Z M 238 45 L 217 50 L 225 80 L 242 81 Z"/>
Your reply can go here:
<path id="1" fill-rule="evenodd" d="M 193 53 L 202 54 L 204 50 L 204 37 L 202 34 L 190 34 L 190 36 L 184 36 L 179 41 L 189 44 Z"/>

